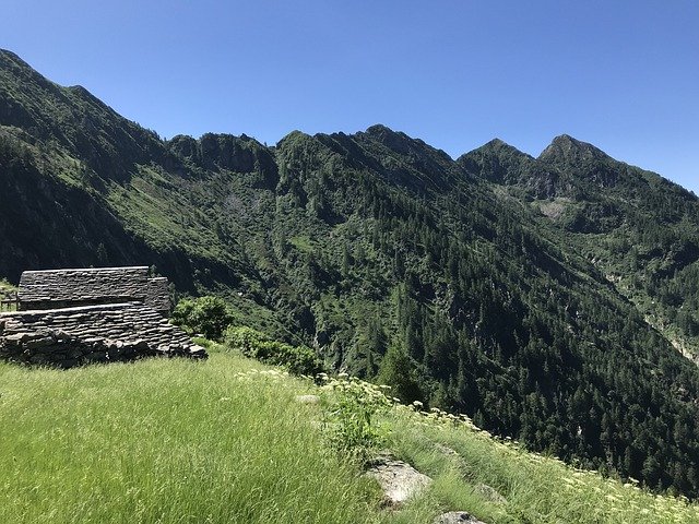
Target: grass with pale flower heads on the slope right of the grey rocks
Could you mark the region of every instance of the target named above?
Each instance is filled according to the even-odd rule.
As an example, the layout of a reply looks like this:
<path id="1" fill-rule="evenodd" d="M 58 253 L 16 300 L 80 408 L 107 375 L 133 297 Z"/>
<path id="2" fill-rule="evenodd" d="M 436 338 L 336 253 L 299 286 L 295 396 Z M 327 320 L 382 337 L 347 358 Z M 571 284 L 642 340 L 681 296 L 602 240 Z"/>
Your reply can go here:
<path id="1" fill-rule="evenodd" d="M 699 523 L 699 505 L 687 499 L 572 468 L 443 415 L 404 406 L 391 415 L 394 452 L 435 478 L 414 511 L 467 509 L 493 524 Z"/>

